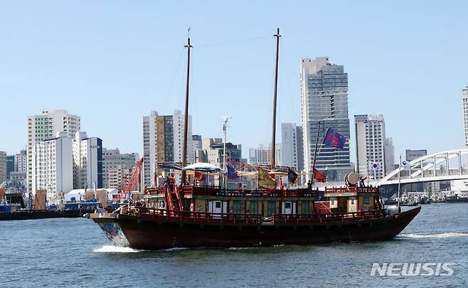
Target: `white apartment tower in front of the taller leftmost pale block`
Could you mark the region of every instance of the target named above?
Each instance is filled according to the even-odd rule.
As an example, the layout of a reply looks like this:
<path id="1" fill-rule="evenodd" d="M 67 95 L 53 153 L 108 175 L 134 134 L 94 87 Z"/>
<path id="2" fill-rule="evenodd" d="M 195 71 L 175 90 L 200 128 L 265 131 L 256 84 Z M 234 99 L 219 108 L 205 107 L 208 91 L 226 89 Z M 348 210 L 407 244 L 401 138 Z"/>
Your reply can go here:
<path id="1" fill-rule="evenodd" d="M 49 201 L 73 189 L 73 140 L 65 132 L 36 143 L 33 191 L 46 190 Z"/>

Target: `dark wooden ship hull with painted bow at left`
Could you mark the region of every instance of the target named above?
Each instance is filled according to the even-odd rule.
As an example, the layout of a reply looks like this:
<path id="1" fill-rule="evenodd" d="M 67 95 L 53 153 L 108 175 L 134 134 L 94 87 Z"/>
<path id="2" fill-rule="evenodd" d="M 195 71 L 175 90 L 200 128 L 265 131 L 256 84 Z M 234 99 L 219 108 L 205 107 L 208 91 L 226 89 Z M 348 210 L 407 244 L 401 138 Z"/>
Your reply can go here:
<path id="1" fill-rule="evenodd" d="M 122 214 L 90 214 L 114 245 L 138 250 L 171 247 L 258 247 L 386 240 L 398 235 L 420 207 L 371 220 L 327 223 L 190 223 Z"/>

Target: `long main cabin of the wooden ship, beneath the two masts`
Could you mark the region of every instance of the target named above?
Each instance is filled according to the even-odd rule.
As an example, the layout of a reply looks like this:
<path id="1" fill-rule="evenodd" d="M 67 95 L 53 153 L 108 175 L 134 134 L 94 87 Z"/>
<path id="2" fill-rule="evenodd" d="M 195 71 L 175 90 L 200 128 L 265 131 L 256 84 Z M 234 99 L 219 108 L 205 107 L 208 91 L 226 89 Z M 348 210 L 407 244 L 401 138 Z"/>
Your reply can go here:
<path id="1" fill-rule="evenodd" d="M 147 188 L 147 208 L 182 210 L 191 215 L 225 218 L 229 215 L 272 218 L 275 215 L 311 215 L 315 193 L 308 188 L 291 190 L 237 190 L 217 186 L 159 186 Z M 180 207 L 181 206 L 181 207 Z"/>

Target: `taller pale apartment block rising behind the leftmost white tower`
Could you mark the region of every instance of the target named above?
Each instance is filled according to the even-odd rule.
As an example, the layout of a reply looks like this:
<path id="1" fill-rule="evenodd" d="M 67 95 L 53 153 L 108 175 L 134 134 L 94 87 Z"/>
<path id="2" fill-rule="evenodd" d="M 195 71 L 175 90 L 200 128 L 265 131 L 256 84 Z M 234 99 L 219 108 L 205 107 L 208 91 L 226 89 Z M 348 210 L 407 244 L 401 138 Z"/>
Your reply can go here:
<path id="1" fill-rule="evenodd" d="M 33 190 L 36 182 L 34 171 L 36 171 L 36 144 L 48 138 L 52 138 L 58 132 L 65 132 L 70 139 L 75 137 L 76 132 L 80 132 L 80 117 L 68 114 L 67 110 L 43 111 L 41 114 L 28 116 L 28 143 L 26 144 L 26 189 Z"/>

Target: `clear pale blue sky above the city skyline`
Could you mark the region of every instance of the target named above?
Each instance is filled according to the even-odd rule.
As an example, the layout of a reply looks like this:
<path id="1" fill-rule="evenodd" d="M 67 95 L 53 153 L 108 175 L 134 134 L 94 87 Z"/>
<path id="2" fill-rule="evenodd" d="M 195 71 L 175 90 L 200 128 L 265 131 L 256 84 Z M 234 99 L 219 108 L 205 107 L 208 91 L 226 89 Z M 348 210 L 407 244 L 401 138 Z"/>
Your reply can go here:
<path id="1" fill-rule="evenodd" d="M 193 132 L 221 137 L 231 115 L 244 157 L 270 142 L 277 27 L 278 123 L 301 122 L 301 58 L 329 56 L 349 74 L 351 128 L 383 114 L 395 157 L 461 147 L 468 4 L 357 2 L 2 1 L 0 150 L 25 146 L 28 114 L 68 109 L 104 146 L 142 153 L 142 116 L 184 108 L 189 26 Z"/>

